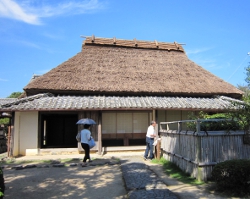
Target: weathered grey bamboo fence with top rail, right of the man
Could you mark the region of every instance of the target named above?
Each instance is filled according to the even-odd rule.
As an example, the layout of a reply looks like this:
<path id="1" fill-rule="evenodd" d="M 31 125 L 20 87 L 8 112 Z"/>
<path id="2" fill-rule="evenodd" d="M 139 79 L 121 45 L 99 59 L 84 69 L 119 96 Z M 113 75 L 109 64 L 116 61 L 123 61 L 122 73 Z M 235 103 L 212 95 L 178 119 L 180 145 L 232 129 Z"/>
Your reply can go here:
<path id="1" fill-rule="evenodd" d="M 196 131 L 182 130 L 182 124 L 190 121 L 196 122 Z M 200 131 L 200 123 L 209 121 L 218 120 L 160 122 L 163 157 L 202 181 L 211 178 L 212 169 L 219 162 L 250 159 L 250 145 L 243 142 L 244 131 Z M 177 130 L 169 128 L 174 124 L 178 124 Z"/>

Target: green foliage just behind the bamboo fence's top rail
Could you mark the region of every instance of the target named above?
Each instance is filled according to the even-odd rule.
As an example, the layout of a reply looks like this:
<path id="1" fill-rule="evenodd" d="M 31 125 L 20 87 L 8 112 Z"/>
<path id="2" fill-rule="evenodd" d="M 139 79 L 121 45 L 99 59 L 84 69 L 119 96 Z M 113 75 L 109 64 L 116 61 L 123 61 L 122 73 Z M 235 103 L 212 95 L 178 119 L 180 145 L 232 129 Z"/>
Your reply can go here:
<path id="1" fill-rule="evenodd" d="M 239 122 L 231 117 L 231 115 L 227 113 L 216 113 L 209 115 L 207 113 L 204 113 L 200 111 L 197 115 L 194 113 L 190 113 L 188 115 L 188 118 L 190 120 L 198 120 L 198 119 L 225 119 L 220 121 L 205 121 L 200 123 L 200 130 L 201 131 L 229 131 L 229 130 L 239 130 L 241 129 L 241 126 L 239 125 Z M 230 119 L 231 118 L 231 119 Z M 187 122 L 188 129 L 192 131 L 196 131 L 196 122 Z"/>

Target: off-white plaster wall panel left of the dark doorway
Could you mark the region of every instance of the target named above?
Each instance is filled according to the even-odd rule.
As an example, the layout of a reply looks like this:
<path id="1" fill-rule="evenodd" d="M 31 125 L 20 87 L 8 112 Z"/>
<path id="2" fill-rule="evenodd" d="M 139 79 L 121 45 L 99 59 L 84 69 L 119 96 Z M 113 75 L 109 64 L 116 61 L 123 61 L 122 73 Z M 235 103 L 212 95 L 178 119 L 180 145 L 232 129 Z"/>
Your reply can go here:
<path id="1" fill-rule="evenodd" d="M 26 155 L 26 149 L 38 148 L 38 112 L 16 112 L 13 155 Z"/>

